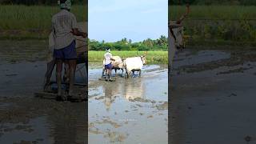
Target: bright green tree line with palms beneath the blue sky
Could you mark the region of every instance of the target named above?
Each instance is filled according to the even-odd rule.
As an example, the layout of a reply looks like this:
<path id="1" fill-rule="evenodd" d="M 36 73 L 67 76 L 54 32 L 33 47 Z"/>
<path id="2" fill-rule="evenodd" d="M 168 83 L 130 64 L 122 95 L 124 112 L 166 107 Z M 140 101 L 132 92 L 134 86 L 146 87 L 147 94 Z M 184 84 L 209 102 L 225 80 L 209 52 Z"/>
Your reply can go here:
<path id="1" fill-rule="evenodd" d="M 89 39 L 89 50 L 168 50 L 168 40 L 161 35 L 158 39 L 147 38 L 143 42 L 132 42 L 131 39 L 122 38 L 118 42 L 98 42 Z"/>

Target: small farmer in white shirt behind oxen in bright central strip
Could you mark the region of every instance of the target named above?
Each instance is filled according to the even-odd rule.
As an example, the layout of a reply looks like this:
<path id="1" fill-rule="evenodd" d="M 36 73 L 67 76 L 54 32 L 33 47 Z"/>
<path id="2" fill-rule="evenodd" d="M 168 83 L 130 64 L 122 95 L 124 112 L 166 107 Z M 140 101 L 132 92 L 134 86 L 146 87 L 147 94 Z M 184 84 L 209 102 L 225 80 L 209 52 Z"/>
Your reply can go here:
<path id="1" fill-rule="evenodd" d="M 114 61 L 114 58 L 112 58 L 112 54 L 110 53 L 110 48 L 106 49 L 106 54 L 104 54 L 104 59 L 105 59 L 106 81 L 111 81 L 111 71 L 112 71 L 111 60 Z"/>

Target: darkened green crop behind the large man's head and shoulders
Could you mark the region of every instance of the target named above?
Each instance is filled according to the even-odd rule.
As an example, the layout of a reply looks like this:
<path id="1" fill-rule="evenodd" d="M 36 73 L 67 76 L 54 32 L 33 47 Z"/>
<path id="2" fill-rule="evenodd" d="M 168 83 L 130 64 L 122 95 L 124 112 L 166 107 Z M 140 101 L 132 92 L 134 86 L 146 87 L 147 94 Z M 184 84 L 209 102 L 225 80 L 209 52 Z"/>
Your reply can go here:
<path id="1" fill-rule="evenodd" d="M 1 6 L 1 5 L 0 5 Z M 0 9 L 1 39 L 46 39 L 51 18 L 58 13 L 55 6 L 2 5 Z M 87 21 L 86 6 L 72 6 L 78 22 Z"/>

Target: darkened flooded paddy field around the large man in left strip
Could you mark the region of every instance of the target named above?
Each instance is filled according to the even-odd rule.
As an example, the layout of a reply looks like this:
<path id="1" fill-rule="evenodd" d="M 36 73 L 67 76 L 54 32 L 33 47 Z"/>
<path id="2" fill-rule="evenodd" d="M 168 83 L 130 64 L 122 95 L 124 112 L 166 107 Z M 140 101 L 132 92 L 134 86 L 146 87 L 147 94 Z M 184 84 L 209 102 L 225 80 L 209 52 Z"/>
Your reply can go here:
<path id="1" fill-rule="evenodd" d="M 34 97 L 42 91 L 46 43 L 0 43 L 0 143 L 84 144 L 87 102 Z"/>

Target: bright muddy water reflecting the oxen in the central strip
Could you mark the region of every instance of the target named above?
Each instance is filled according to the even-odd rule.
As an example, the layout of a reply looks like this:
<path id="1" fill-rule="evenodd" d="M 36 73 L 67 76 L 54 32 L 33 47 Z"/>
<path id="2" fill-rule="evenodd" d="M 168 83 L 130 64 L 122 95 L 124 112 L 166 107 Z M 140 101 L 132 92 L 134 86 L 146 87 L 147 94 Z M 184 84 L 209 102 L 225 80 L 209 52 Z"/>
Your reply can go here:
<path id="1" fill-rule="evenodd" d="M 144 66 L 142 77 L 100 81 L 89 66 L 89 143 L 167 143 L 167 67 Z"/>

